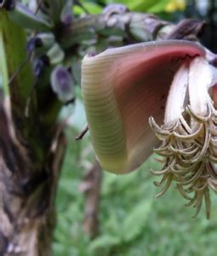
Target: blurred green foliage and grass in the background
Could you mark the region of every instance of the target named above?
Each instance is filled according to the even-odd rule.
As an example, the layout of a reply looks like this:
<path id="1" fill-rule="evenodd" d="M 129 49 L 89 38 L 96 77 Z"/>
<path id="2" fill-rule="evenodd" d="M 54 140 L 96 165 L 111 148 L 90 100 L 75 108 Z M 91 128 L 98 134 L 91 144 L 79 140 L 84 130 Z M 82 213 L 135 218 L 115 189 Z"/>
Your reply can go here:
<path id="1" fill-rule="evenodd" d="M 212 1 L 208 3 L 206 0 L 188 3 L 184 0 L 81 2 L 91 14 L 99 14 L 107 3 L 118 2 L 126 4 L 132 11 L 155 13 L 173 22 L 185 17 L 207 19 L 212 4 Z M 84 15 L 79 7 L 75 11 L 77 15 Z M 208 44 L 208 35 L 203 40 Z M 68 110 L 65 109 L 65 112 Z M 208 221 L 203 211 L 197 218 L 191 218 L 193 210 L 185 207 L 185 201 L 175 188 L 169 189 L 161 199 L 153 199 L 157 188 L 153 185 L 154 178 L 149 168 L 159 167 L 154 156 L 137 172 L 127 176 L 104 173 L 100 235 L 90 241 L 81 227 L 84 198 L 79 185 L 85 170 L 93 163 L 94 154 L 88 136 L 82 142 L 74 141 L 84 123 L 83 105 L 77 89 L 71 127 L 66 130 L 68 146 L 56 201 L 58 216 L 54 256 L 216 255 L 216 200 L 213 200 L 213 214 Z"/>

